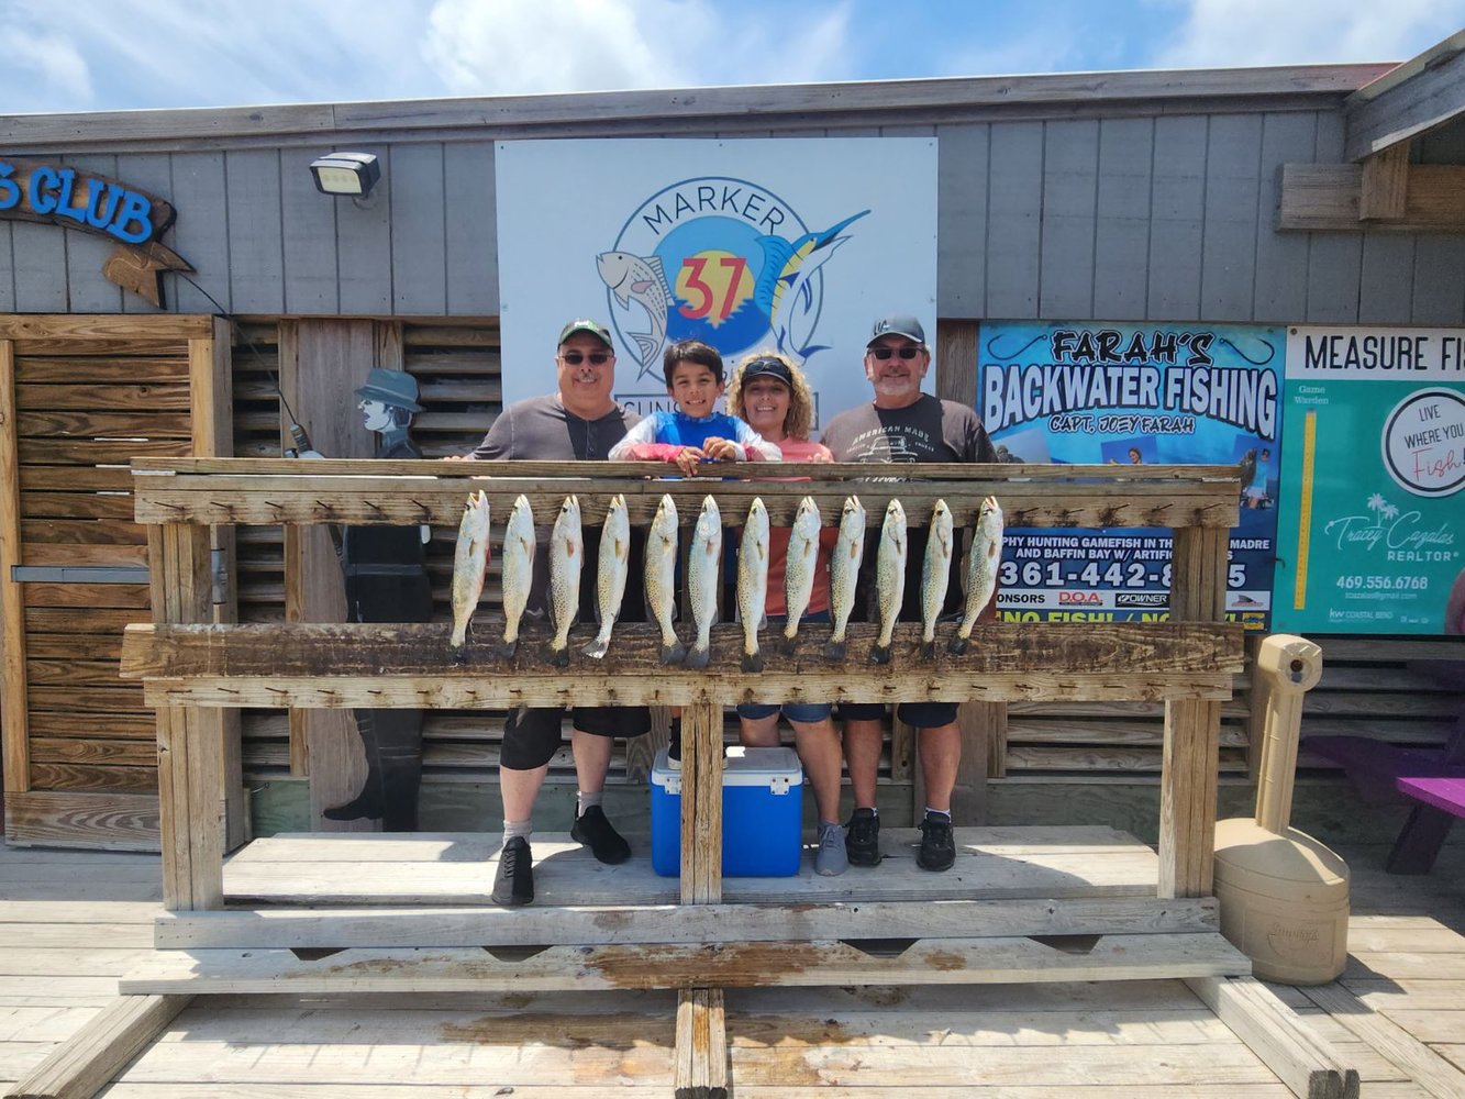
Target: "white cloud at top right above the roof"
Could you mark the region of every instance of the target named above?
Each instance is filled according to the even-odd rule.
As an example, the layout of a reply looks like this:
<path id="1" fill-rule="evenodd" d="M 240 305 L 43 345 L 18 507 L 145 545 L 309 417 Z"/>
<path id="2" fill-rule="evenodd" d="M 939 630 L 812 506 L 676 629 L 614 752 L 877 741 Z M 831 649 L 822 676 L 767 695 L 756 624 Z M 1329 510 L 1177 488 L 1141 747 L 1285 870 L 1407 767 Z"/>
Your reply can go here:
<path id="1" fill-rule="evenodd" d="M 1194 0 L 1163 67 L 1402 62 L 1461 29 L 1462 0 Z"/>

